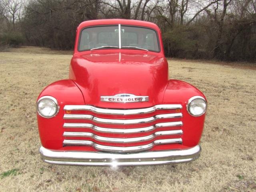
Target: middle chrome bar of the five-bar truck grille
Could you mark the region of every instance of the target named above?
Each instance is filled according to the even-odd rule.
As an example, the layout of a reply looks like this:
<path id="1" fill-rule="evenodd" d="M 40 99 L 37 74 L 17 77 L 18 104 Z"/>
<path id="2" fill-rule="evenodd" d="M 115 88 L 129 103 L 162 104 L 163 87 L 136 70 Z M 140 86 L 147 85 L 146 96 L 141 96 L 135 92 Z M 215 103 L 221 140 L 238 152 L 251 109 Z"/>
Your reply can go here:
<path id="1" fill-rule="evenodd" d="M 64 123 L 64 128 L 91 128 L 97 132 L 104 132 L 104 133 L 116 133 L 116 134 L 129 134 L 129 133 L 142 133 L 155 130 L 156 128 L 161 127 L 174 127 L 174 126 L 182 126 L 181 121 L 176 122 L 166 122 L 166 123 L 157 123 L 153 126 L 142 127 L 142 128 L 125 128 L 125 129 L 118 129 L 118 128 L 103 128 L 98 127 L 93 124 L 88 123 Z"/>

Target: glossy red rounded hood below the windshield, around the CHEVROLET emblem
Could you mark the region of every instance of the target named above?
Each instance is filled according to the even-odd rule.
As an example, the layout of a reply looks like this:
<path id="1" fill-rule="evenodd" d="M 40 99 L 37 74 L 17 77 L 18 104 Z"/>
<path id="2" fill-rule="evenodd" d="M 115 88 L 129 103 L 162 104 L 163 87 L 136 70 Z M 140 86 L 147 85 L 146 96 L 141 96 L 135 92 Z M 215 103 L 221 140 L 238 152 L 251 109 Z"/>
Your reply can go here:
<path id="1" fill-rule="evenodd" d="M 168 81 L 163 56 L 147 52 L 89 52 L 72 58 L 70 78 L 84 95 L 86 104 L 104 108 L 140 108 L 162 103 Z M 100 96 L 116 94 L 149 96 L 148 102 L 110 103 Z"/>

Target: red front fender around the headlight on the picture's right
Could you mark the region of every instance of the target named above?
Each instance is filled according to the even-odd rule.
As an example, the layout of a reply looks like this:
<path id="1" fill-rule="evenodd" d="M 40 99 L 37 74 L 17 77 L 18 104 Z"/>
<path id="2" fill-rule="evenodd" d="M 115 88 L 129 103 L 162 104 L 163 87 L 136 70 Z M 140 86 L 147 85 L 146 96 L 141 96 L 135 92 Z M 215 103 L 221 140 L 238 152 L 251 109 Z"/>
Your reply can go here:
<path id="1" fill-rule="evenodd" d="M 163 99 L 163 104 L 182 105 L 182 141 L 185 146 L 190 147 L 196 146 L 199 143 L 206 115 L 205 113 L 202 116 L 194 117 L 188 113 L 186 109 L 188 100 L 193 96 L 202 96 L 206 100 L 204 94 L 196 87 L 180 80 L 169 80 Z"/>

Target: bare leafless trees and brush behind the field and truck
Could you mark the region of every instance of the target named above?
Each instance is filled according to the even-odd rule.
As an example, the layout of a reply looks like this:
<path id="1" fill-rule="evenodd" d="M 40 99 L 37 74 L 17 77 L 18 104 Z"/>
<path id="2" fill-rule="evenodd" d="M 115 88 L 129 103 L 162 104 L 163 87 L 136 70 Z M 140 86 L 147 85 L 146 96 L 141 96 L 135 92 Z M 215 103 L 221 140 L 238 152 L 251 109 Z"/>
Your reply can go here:
<path id="1" fill-rule="evenodd" d="M 86 20 L 156 23 L 167 57 L 256 61 L 256 0 L 0 0 L 0 48 L 74 48 Z"/>

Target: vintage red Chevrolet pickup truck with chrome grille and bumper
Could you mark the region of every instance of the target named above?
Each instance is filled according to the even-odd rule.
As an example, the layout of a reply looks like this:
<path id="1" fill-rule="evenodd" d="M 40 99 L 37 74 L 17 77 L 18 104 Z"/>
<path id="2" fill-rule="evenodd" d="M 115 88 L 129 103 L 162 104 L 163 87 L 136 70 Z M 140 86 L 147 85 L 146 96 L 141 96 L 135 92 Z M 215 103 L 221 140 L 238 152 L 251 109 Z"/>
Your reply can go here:
<path id="1" fill-rule="evenodd" d="M 69 79 L 37 99 L 44 162 L 143 166 L 199 157 L 207 102 L 168 79 L 156 24 L 108 19 L 77 28 Z"/>

